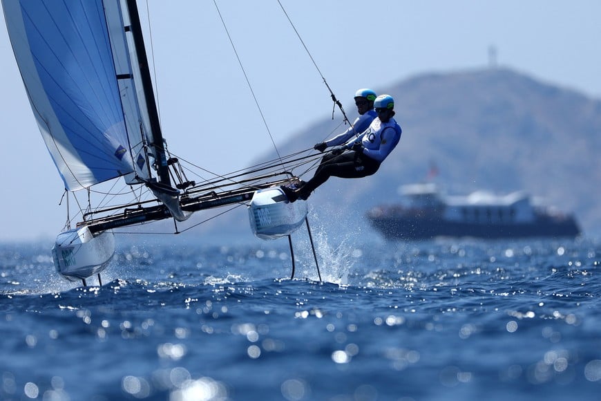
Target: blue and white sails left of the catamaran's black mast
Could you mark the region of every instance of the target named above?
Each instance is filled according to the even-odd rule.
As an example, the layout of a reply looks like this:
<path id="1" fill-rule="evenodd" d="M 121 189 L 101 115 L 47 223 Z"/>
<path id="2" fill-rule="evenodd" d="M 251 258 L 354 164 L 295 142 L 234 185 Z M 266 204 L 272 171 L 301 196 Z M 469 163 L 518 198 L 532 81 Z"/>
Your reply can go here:
<path id="1" fill-rule="evenodd" d="M 66 189 L 149 178 L 118 0 L 2 0 L 23 83 Z"/>

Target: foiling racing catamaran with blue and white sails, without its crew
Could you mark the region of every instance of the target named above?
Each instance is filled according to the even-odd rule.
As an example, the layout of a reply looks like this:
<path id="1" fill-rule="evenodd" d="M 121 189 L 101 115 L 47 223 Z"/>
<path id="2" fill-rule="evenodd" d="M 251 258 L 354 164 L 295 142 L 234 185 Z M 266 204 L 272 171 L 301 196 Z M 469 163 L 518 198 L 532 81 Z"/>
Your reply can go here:
<path id="1" fill-rule="evenodd" d="M 72 227 L 68 216 L 53 247 L 61 276 L 85 286 L 97 274 L 102 284 L 99 273 L 115 253 L 113 229 L 173 218 L 177 231 L 177 222 L 204 209 L 247 205 L 251 228 L 262 239 L 290 241 L 303 222 L 309 228 L 306 203 L 289 203 L 280 189 L 298 182 L 288 171 L 262 167 L 201 184 L 187 179 L 162 136 L 135 0 L 2 0 L 2 6 L 67 199 L 88 194 L 79 222 Z M 91 205 L 95 187 L 117 182 L 130 188 L 133 200 Z M 104 197 L 117 195 L 123 193 Z"/>

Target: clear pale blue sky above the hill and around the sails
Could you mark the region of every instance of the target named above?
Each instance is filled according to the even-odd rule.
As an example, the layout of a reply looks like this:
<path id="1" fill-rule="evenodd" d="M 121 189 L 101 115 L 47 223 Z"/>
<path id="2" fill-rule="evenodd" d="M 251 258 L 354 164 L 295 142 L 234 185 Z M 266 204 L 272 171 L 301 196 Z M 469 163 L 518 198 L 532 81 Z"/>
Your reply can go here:
<path id="1" fill-rule="evenodd" d="M 207 0 L 138 3 L 169 149 L 218 174 L 330 118 L 324 80 L 352 120 L 356 89 L 383 93 L 424 73 L 487 68 L 494 48 L 498 66 L 601 100 L 597 0 L 280 0 L 302 42 L 277 0 L 217 1 L 219 12 Z M 3 18 L 0 68 L 0 241 L 54 238 L 66 220 L 63 184 Z"/>

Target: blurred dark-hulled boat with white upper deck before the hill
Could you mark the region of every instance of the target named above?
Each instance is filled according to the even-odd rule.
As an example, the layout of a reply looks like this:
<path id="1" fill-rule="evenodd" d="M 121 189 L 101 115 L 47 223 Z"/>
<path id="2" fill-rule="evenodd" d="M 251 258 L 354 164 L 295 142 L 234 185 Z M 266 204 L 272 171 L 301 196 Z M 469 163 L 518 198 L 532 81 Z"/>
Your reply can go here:
<path id="1" fill-rule="evenodd" d="M 524 192 L 449 196 L 434 183 L 403 185 L 399 192 L 398 203 L 379 205 L 367 212 L 370 224 L 385 239 L 511 239 L 580 234 L 574 216 L 534 205 Z"/>

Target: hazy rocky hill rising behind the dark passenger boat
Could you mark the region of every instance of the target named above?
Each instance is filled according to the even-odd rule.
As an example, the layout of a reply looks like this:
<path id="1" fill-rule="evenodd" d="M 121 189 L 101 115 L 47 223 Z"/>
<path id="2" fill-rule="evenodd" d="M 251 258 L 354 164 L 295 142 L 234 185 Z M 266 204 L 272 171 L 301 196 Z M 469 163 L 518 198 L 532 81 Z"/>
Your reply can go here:
<path id="1" fill-rule="evenodd" d="M 601 234 L 600 100 L 502 68 L 419 75 L 374 90 L 394 96 L 401 142 L 376 175 L 331 178 L 318 188 L 309 203 L 326 230 L 343 222 L 372 232 L 365 211 L 394 203 L 399 185 L 422 182 L 435 165 L 435 180 L 451 194 L 523 189 L 574 212 L 585 234 Z M 344 106 L 353 120 L 354 104 Z M 307 127 L 280 154 L 311 147 L 331 136 L 336 124 L 326 117 Z M 219 220 L 203 233 L 224 226 L 228 234 L 249 233 L 242 208 Z"/>

